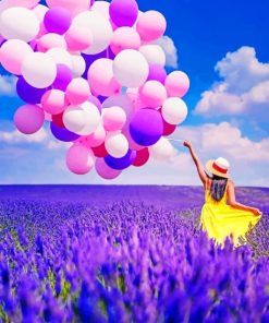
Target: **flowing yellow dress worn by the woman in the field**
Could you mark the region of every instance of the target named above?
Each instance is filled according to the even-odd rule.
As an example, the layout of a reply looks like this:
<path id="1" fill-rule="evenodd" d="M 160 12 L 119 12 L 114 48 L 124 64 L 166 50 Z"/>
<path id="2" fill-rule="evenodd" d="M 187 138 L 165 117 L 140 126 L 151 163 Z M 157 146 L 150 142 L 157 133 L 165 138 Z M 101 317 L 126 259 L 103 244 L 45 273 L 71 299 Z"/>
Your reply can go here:
<path id="1" fill-rule="evenodd" d="M 227 186 L 228 187 L 228 186 Z M 200 228 L 213 238 L 217 243 L 223 246 L 227 237 L 232 235 L 233 244 L 241 246 L 240 237 L 245 234 L 261 218 L 250 211 L 239 210 L 227 204 L 227 188 L 223 198 L 217 202 L 210 195 L 210 190 L 205 190 L 205 204 L 200 214 Z"/>

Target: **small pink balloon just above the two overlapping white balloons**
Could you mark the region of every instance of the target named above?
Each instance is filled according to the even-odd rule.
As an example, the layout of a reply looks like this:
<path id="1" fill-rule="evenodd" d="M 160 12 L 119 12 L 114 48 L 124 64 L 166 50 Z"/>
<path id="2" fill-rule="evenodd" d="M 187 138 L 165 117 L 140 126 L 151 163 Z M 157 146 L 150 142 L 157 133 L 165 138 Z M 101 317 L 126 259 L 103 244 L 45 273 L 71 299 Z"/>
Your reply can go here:
<path id="1" fill-rule="evenodd" d="M 83 77 L 73 79 L 66 87 L 66 98 L 72 105 L 83 104 L 89 95 L 88 82 Z"/>

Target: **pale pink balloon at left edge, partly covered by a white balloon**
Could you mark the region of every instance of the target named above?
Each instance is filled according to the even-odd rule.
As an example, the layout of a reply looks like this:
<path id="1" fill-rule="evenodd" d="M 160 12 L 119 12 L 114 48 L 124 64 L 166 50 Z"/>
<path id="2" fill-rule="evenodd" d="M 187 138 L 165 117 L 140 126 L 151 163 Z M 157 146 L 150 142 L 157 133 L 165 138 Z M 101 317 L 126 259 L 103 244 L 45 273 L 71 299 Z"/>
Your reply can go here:
<path id="1" fill-rule="evenodd" d="M 10 73 L 22 75 L 23 60 L 32 52 L 30 46 L 23 40 L 7 40 L 0 48 L 0 63 Z"/>

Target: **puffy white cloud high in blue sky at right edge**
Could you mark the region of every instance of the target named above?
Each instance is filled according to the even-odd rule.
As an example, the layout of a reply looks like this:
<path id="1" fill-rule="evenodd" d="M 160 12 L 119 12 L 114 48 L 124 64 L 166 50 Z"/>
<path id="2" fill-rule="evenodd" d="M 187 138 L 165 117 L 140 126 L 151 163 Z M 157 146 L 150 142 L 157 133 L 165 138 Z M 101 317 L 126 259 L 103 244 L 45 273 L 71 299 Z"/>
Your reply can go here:
<path id="1" fill-rule="evenodd" d="M 217 62 L 222 81 L 201 94 L 195 113 L 205 117 L 252 113 L 269 116 L 269 63 L 261 63 L 253 47 L 241 47 Z"/>

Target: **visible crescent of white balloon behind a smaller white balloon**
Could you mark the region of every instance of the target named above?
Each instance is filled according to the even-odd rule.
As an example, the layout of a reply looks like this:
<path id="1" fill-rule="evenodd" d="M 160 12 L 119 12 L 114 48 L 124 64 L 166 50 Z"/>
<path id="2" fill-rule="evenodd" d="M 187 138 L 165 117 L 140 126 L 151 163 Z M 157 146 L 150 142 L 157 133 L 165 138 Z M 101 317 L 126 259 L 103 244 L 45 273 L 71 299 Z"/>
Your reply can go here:
<path id="1" fill-rule="evenodd" d="M 89 135 L 100 125 L 101 116 L 98 108 L 89 101 L 82 104 L 81 108 L 85 111 L 85 125 L 76 133 L 81 135 Z"/>

